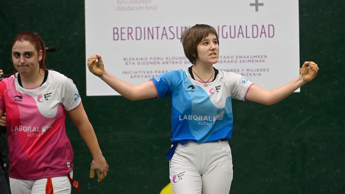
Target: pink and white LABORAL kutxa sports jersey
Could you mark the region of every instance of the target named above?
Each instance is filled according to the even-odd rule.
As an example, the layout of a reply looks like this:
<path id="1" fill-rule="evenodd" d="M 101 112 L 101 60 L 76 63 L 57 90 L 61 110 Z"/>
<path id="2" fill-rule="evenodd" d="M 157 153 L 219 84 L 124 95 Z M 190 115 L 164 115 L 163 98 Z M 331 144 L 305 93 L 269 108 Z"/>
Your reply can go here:
<path id="1" fill-rule="evenodd" d="M 73 169 L 65 110 L 78 107 L 80 95 L 71 79 L 53 70 L 46 74 L 46 81 L 38 88 L 21 87 L 18 73 L 0 81 L 0 109 L 6 111 L 11 178 L 65 176 Z"/>

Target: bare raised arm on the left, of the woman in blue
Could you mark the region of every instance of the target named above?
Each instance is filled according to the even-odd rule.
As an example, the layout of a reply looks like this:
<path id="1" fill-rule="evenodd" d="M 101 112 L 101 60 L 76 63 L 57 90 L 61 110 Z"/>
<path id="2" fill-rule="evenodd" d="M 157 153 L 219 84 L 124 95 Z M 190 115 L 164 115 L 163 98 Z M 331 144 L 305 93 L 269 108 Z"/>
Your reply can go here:
<path id="1" fill-rule="evenodd" d="M 92 74 L 100 77 L 112 89 L 130 100 L 141 100 L 157 97 L 155 85 L 151 81 L 146 81 L 135 86 L 111 75 L 104 69 L 102 57 L 100 55 L 94 55 L 88 58 L 87 65 Z"/>

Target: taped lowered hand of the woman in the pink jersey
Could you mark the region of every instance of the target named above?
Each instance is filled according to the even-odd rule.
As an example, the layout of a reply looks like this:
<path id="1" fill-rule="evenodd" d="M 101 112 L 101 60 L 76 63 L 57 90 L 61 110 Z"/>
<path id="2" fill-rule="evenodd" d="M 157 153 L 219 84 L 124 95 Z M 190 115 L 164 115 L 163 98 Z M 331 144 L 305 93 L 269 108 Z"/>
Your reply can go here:
<path id="1" fill-rule="evenodd" d="M 93 158 L 90 167 L 90 178 L 95 176 L 95 171 L 97 172 L 98 181 L 101 182 L 109 171 L 109 165 L 107 164 L 106 159 L 103 156 Z"/>

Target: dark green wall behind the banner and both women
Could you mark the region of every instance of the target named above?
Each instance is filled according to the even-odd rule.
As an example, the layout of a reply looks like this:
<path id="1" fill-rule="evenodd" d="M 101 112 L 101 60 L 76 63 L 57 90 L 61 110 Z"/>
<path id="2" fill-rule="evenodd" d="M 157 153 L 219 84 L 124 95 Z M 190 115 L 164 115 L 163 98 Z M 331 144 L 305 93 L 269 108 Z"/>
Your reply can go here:
<path id="1" fill-rule="evenodd" d="M 13 71 L 14 36 L 34 31 L 47 46 L 58 47 L 47 54 L 48 66 L 72 78 L 79 89 L 110 165 L 101 183 L 88 178 L 91 154 L 67 118 L 75 151 L 74 177 L 81 181 L 82 193 L 159 193 L 169 183 L 165 154 L 170 100 L 86 97 L 84 1 L 1 1 L 0 5 L 0 68 L 5 74 Z M 313 60 L 320 68 L 300 93 L 272 106 L 233 101 L 230 193 L 345 193 L 344 9 L 344 1 L 299 2 L 300 64 Z"/>

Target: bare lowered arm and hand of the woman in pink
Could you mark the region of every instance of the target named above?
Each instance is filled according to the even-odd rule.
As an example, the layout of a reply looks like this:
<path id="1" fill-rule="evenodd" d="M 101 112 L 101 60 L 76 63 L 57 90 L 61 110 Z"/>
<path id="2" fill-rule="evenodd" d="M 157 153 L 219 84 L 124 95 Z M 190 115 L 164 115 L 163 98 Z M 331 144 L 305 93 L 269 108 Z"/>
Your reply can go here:
<path id="1" fill-rule="evenodd" d="M 101 149 L 99 148 L 95 131 L 89 122 L 83 105 L 80 103 L 77 108 L 68 111 L 68 114 L 73 123 L 77 126 L 80 136 L 83 138 L 92 154 L 93 165 L 91 166 L 91 170 L 97 170 L 101 174 L 101 176 L 98 176 L 98 182 L 100 182 L 107 175 L 107 167 L 109 166 L 107 166 L 105 158 L 103 157 Z"/>

